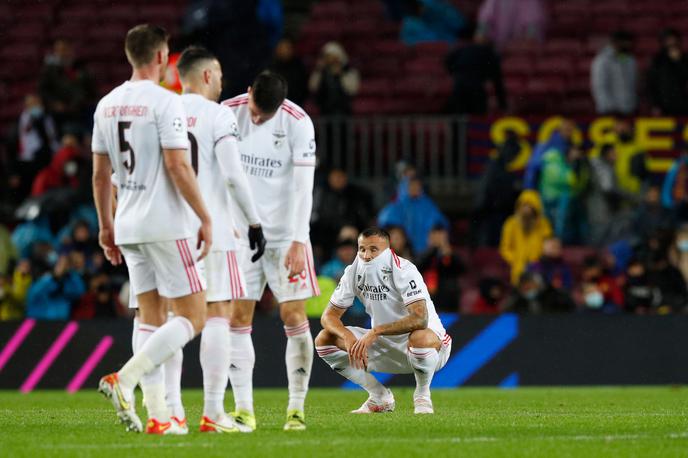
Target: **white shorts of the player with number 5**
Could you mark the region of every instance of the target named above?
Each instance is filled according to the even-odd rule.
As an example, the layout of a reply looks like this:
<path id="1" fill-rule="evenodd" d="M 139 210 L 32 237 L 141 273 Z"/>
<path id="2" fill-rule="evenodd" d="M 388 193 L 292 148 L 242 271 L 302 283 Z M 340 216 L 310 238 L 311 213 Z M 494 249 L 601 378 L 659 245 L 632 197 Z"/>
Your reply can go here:
<path id="1" fill-rule="evenodd" d="M 199 251 L 190 239 L 121 245 L 119 249 L 127 262 L 134 295 L 157 289 L 161 296 L 174 299 L 206 288 L 203 262 L 196 261 Z"/>

